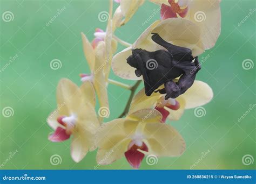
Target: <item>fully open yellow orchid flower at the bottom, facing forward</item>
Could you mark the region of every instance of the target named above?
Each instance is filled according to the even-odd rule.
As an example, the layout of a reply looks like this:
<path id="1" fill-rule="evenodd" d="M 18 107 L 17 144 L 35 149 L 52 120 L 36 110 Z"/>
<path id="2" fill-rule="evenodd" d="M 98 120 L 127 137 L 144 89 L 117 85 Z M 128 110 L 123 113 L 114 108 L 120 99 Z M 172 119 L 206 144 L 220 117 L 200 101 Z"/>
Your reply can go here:
<path id="1" fill-rule="evenodd" d="M 181 155 L 186 147 L 184 139 L 160 120 L 158 111 L 142 109 L 101 125 L 96 136 L 98 164 L 111 164 L 125 156 L 133 168 L 139 168 L 145 155 Z"/>

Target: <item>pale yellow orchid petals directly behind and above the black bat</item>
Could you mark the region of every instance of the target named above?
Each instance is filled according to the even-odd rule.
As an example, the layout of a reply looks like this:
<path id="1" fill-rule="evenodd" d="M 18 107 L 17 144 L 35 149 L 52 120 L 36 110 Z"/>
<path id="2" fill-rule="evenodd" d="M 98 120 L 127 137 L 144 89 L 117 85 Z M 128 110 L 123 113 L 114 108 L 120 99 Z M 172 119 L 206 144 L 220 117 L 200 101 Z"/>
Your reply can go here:
<path id="1" fill-rule="evenodd" d="M 130 80 L 142 79 L 142 77 L 137 77 L 135 75 L 134 71 L 136 68 L 128 65 L 126 59 L 132 54 L 132 49 L 135 48 L 143 48 L 150 52 L 165 49 L 151 39 L 151 33 L 158 33 L 165 41 L 174 45 L 190 48 L 193 56 L 197 56 L 204 52 L 200 38 L 200 27 L 198 25 L 183 18 L 157 20 L 147 27 L 131 47 L 127 47 L 114 55 L 112 69 L 116 75 Z"/>

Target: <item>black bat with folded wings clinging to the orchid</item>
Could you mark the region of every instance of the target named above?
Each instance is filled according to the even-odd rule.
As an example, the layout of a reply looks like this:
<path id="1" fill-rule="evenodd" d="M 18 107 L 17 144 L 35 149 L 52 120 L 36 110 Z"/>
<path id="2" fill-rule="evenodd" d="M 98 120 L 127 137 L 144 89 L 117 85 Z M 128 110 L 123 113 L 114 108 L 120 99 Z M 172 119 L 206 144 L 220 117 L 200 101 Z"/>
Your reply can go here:
<path id="1" fill-rule="evenodd" d="M 193 58 L 191 49 L 170 44 L 159 34 L 152 34 L 151 39 L 167 51 L 160 49 L 149 52 L 142 48 L 132 49 L 132 55 L 126 59 L 127 63 L 136 68 L 136 76 L 143 76 L 147 96 L 155 91 L 166 94 L 165 100 L 177 98 L 194 83 L 196 74 L 201 69 L 198 57 Z M 179 76 L 178 82 L 174 82 L 173 79 Z M 164 88 L 157 90 L 162 84 Z"/>

